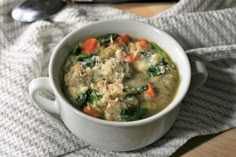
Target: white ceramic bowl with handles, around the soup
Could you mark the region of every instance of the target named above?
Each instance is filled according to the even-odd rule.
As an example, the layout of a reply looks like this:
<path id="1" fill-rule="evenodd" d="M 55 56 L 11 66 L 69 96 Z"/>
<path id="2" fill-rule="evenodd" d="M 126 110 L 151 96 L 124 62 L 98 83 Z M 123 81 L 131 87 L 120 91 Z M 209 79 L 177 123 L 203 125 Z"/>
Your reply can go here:
<path id="1" fill-rule="evenodd" d="M 138 121 L 111 122 L 88 116 L 70 104 L 61 86 L 61 69 L 69 54 L 68 50 L 79 41 L 106 33 L 127 33 L 133 38 L 154 41 L 170 55 L 179 69 L 180 85 L 176 97 L 164 110 Z M 129 151 L 155 142 L 170 129 L 176 119 L 179 104 L 188 91 L 190 80 L 191 68 L 188 57 L 170 35 L 152 25 L 138 21 L 107 20 L 89 24 L 67 35 L 52 54 L 49 78 L 34 79 L 29 91 L 32 100 L 38 106 L 59 114 L 67 128 L 83 141 L 101 149 Z M 52 91 L 56 100 L 50 101 L 40 97 L 37 92 L 42 89 Z"/>

